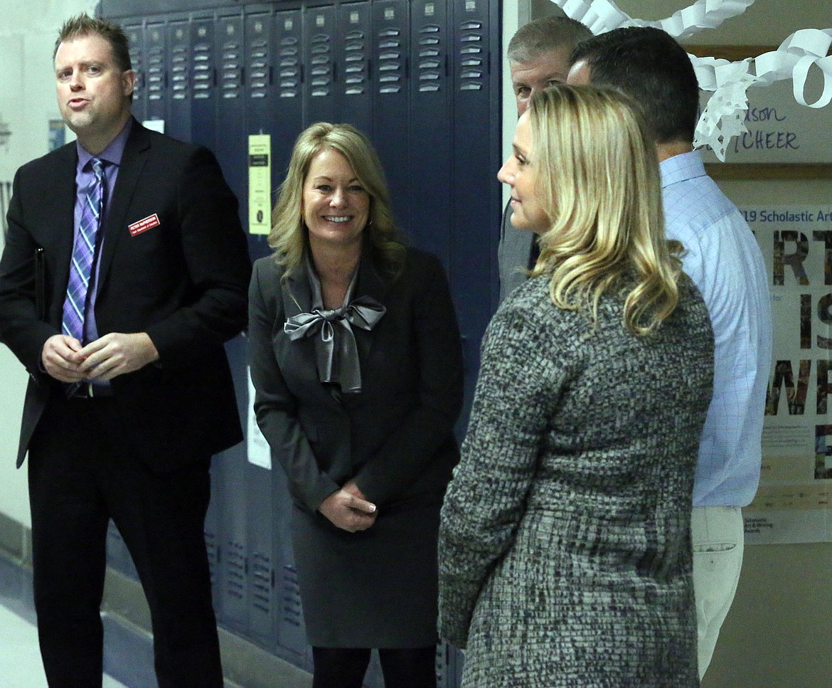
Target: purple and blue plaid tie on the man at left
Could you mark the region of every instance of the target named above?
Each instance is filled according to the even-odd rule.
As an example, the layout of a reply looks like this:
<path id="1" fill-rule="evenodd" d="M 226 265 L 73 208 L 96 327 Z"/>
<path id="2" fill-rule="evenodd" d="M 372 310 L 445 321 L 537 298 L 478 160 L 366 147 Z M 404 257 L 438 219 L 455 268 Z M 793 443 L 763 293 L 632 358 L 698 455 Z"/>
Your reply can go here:
<path id="1" fill-rule="evenodd" d="M 69 266 L 67 298 L 63 302 L 62 331 L 69 337 L 84 341 L 84 316 L 87 311 L 88 293 L 92 275 L 92 262 L 96 255 L 96 237 L 104 197 L 104 162 L 92 158 L 93 179 L 82 190 L 81 222 L 72 247 L 72 263 Z"/>

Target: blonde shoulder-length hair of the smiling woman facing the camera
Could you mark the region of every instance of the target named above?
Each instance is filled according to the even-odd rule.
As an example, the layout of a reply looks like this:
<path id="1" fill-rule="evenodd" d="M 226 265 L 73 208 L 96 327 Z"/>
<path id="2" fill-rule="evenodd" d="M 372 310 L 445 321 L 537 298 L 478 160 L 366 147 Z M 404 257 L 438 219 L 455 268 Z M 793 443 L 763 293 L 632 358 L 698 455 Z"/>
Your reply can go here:
<path id="1" fill-rule="evenodd" d="M 268 242 L 275 251 L 275 260 L 286 267 L 284 278 L 300 265 L 309 243 L 303 212 L 304 183 L 312 160 L 327 148 L 347 159 L 355 177 L 369 194 L 364 245 L 369 245 L 374 257 L 391 272 L 399 272 L 404 262 L 404 245 L 399 242 L 400 232 L 390 210 L 384 170 L 372 144 L 349 124 L 316 122 L 301 132 L 295 141 L 289 171 L 280 184 L 280 194 L 271 213 Z"/>

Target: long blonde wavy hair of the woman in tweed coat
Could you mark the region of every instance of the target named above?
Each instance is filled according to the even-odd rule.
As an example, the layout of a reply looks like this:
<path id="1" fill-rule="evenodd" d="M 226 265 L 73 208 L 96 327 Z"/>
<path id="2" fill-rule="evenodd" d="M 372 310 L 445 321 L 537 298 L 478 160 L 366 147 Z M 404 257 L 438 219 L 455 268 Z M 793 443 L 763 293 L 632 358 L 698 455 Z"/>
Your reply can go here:
<path id="1" fill-rule="evenodd" d="M 665 237 L 656 148 L 639 108 L 609 87 L 549 87 L 529 107 L 535 192 L 551 227 L 532 276 L 551 276 L 555 306 L 588 307 L 606 292 L 646 335 L 679 302 L 679 242 Z"/>

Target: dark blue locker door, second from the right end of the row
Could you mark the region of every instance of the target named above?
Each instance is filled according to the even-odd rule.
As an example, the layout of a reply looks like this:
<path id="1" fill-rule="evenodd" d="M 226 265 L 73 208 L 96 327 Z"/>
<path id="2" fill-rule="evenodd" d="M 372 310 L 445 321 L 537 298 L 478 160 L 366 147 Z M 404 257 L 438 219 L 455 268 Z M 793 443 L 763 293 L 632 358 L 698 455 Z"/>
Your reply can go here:
<path id="1" fill-rule="evenodd" d="M 415 246 L 435 253 L 448 270 L 453 127 L 447 6 L 414 0 L 410 17 L 410 237 Z"/>

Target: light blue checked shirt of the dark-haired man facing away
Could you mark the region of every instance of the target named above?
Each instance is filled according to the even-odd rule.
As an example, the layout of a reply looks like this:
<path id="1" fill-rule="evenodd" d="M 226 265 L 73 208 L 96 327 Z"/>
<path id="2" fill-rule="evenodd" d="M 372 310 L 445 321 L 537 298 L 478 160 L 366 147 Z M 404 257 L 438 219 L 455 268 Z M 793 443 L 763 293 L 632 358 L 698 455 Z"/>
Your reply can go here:
<path id="1" fill-rule="evenodd" d="M 714 396 L 699 447 L 693 506 L 746 506 L 760 482 L 771 303 L 765 262 L 699 152 L 660 164 L 667 236 L 705 299 L 716 339 Z"/>

